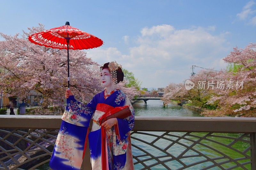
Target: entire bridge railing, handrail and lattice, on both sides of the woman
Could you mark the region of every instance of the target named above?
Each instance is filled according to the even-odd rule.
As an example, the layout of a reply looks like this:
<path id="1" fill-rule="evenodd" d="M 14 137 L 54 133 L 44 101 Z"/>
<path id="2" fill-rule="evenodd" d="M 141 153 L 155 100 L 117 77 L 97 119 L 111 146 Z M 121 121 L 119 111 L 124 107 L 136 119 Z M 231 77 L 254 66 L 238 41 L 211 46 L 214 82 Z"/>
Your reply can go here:
<path id="1" fill-rule="evenodd" d="M 54 115 L 0 115 L 0 169 L 49 169 L 60 123 Z M 256 118 L 135 116 L 134 167 L 256 169 L 255 134 Z M 81 168 L 89 167 L 87 148 Z"/>

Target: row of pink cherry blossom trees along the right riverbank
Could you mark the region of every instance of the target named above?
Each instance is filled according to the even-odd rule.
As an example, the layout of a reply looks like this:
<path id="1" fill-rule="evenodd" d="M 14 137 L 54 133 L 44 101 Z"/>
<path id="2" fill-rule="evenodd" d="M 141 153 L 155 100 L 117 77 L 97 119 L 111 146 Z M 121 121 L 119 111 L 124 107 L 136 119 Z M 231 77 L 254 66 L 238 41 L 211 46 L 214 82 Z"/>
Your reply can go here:
<path id="1" fill-rule="evenodd" d="M 220 71 L 200 70 L 190 77 L 195 87 L 184 90 L 184 84 L 171 83 L 164 89 L 163 100 L 191 99 L 213 110 L 204 116 L 256 117 L 256 44 L 244 49 L 234 48 L 224 59 L 227 69 Z"/>

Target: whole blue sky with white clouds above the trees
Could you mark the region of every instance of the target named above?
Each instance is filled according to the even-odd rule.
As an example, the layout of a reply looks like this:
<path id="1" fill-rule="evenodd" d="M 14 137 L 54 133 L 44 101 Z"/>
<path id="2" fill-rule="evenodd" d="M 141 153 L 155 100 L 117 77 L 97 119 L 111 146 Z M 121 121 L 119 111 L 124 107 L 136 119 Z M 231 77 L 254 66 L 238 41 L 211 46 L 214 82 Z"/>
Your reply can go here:
<path id="1" fill-rule="evenodd" d="M 50 29 L 69 21 L 104 41 L 86 50 L 88 57 L 99 64 L 116 60 L 142 87 L 180 83 L 192 65 L 225 68 L 222 58 L 233 47 L 256 40 L 256 1 L 0 2 L 0 32 L 14 35 L 38 23 Z"/>

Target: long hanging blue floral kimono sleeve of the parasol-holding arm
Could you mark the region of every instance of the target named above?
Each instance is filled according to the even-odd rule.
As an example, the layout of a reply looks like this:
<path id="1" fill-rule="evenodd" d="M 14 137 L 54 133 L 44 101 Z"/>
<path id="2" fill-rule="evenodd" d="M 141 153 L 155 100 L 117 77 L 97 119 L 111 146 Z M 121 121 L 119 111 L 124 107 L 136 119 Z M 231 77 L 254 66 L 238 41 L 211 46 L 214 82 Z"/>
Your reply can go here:
<path id="1" fill-rule="evenodd" d="M 69 96 L 49 163 L 52 169 L 80 170 L 85 138 L 94 111 L 93 107 L 76 101 L 73 95 Z"/>

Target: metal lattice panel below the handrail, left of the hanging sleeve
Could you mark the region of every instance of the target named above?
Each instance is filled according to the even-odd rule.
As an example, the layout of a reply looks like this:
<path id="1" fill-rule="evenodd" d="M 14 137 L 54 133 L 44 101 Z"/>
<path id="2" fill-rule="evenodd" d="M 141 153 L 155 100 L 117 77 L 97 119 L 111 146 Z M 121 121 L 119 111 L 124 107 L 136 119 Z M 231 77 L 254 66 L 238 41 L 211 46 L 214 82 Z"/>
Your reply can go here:
<path id="1" fill-rule="evenodd" d="M 0 129 L 0 168 L 47 167 L 58 131 L 58 129 Z"/>

